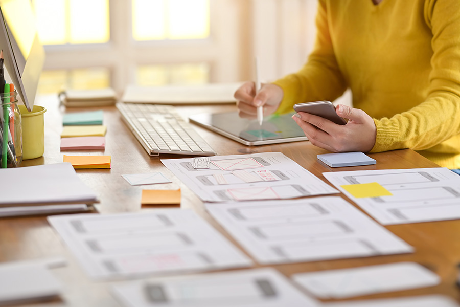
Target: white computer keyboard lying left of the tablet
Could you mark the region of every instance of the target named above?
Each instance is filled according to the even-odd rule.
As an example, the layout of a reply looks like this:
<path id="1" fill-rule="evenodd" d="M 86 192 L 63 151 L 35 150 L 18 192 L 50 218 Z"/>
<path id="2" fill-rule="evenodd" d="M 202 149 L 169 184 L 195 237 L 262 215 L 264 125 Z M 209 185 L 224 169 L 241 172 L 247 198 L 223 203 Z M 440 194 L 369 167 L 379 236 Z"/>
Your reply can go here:
<path id="1" fill-rule="evenodd" d="M 215 156 L 216 152 L 172 105 L 117 103 L 132 133 L 150 156 L 160 153 Z"/>

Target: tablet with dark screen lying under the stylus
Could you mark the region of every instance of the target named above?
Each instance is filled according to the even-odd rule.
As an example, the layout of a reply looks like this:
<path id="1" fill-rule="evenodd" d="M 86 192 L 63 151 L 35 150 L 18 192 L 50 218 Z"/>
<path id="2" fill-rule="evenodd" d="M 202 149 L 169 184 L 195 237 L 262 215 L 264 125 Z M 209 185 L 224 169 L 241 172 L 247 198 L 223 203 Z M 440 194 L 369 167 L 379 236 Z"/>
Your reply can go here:
<path id="1" fill-rule="evenodd" d="M 197 114 L 190 122 L 208 128 L 245 145 L 266 145 L 307 141 L 304 131 L 291 118 L 294 113 L 270 115 L 262 126 L 257 119 L 240 118 L 237 112 Z"/>

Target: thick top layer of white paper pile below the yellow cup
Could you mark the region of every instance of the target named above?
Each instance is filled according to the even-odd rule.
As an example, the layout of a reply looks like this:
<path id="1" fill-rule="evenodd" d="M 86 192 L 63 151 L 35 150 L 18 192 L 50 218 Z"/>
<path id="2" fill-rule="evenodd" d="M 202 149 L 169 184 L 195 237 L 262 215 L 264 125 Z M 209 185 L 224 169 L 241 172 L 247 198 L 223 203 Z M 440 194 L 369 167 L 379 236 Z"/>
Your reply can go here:
<path id="1" fill-rule="evenodd" d="M 70 163 L 2 169 L 0 186 L 0 206 L 97 202 Z"/>

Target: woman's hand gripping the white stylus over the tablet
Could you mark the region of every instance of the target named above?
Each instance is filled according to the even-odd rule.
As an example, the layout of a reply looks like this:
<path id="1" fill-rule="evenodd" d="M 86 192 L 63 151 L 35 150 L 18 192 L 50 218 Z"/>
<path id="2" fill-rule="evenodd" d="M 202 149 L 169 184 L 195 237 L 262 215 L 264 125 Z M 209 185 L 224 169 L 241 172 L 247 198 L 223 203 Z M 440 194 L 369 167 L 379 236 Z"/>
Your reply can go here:
<path id="1" fill-rule="evenodd" d="M 238 115 L 242 118 L 254 119 L 257 117 L 257 107 L 262 105 L 264 116 L 275 112 L 283 100 L 283 90 L 274 84 L 262 84 L 261 90 L 256 95 L 254 82 L 246 82 L 235 92 Z"/>

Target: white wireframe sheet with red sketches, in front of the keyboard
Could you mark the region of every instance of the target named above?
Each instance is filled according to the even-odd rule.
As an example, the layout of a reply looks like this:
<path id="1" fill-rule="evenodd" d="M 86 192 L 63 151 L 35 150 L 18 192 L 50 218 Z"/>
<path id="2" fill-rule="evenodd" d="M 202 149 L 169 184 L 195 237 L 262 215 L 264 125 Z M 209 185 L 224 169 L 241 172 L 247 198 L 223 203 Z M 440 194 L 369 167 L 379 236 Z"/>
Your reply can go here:
<path id="1" fill-rule="evenodd" d="M 193 159 L 189 158 L 161 161 L 201 200 L 208 202 L 290 199 L 337 193 L 281 152 L 210 157 L 209 169 L 194 168 Z M 235 176 L 234 171 L 239 170 L 258 178 L 258 171 L 269 171 L 277 180 L 246 182 Z"/>

